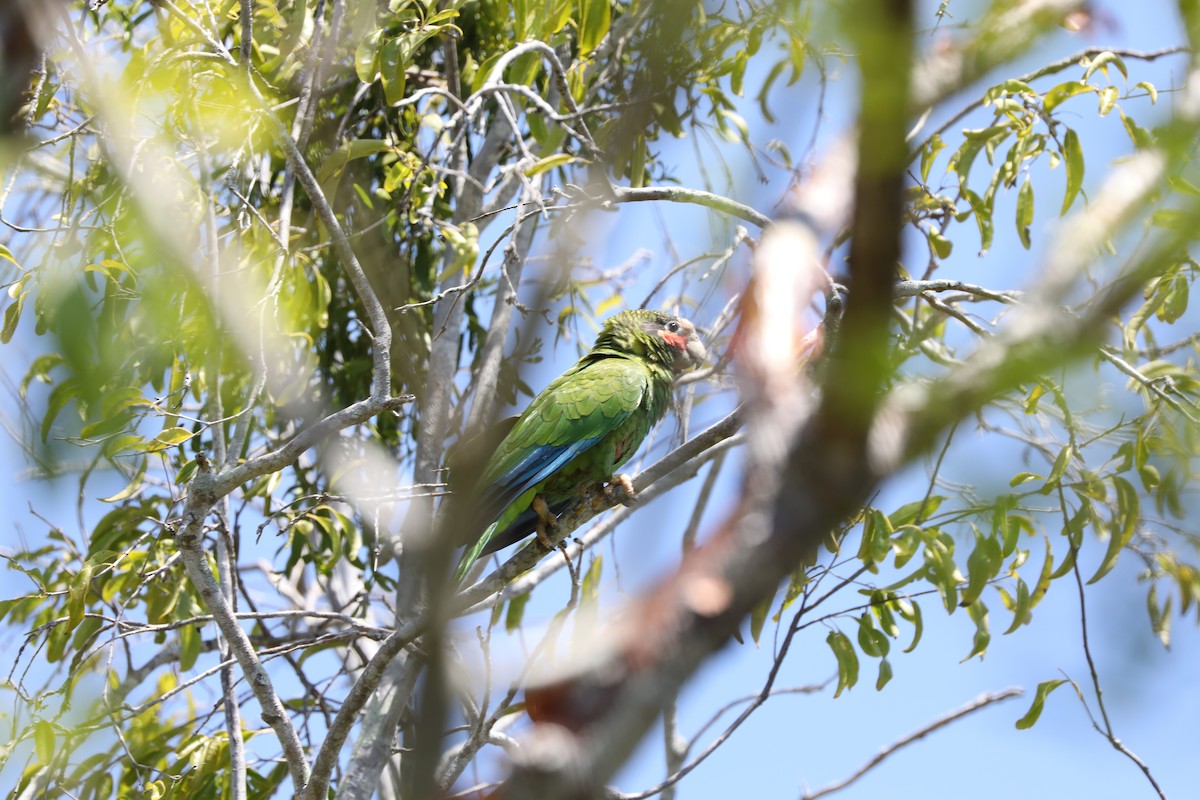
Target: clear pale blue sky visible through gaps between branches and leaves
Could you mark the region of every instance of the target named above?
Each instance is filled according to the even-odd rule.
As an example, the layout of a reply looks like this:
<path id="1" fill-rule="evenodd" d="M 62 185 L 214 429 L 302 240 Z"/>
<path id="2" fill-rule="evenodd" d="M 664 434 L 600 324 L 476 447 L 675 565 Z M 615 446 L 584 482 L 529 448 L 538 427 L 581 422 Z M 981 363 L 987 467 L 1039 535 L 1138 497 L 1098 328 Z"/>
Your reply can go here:
<path id="1" fill-rule="evenodd" d="M 931 19 L 931 11 L 936 5 L 923 4 L 925 19 Z M 959 5 L 952 2 L 950 13 L 968 16 L 966 11 L 959 11 Z M 1150 50 L 1180 43 L 1182 34 L 1171 4 L 1154 0 L 1134 6 L 1135 4 L 1117 1 L 1099 4 L 1096 31 L 1056 34 L 1036 54 L 1006 67 L 998 77 L 1018 74 L 1027 67 L 1092 44 Z M 1178 78 L 1180 67 L 1178 59 L 1153 65 L 1130 62 L 1132 76 L 1135 76 L 1132 83 L 1150 79 L 1159 86 L 1166 86 L 1172 83 L 1172 77 Z M 852 67 L 845 66 L 841 72 L 847 73 L 848 78 Z M 810 72 L 805 80 L 788 94 L 780 95 L 773 103 L 779 116 L 776 125 L 767 126 L 756 118 L 752 108 L 745 109 L 758 144 L 778 138 L 786 142 L 797 157 L 805 155 L 804 146 L 812 130 L 815 110 L 811 76 Z M 749 85 L 752 85 L 750 78 Z M 852 119 L 851 86 L 852 80 L 830 84 L 817 154 Z M 971 92 L 965 94 L 964 102 L 971 96 Z M 1169 103 L 1170 100 L 1164 96 L 1162 102 Z M 1085 188 L 1094 187 L 1103 173 L 1102 164 L 1124 152 L 1128 142 L 1115 116 L 1097 122 L 1090 108 L 1081 109 L 1080 125 L 1086 131 L 1082 136 L 1088 150 L 1090 172 Z M 973 126 L 966 121 L 960 127 Z M 668 157 L 678 157 L 680 169 L 677 174 L 684 184 L 695 178 L 694 167 L 688 166 L 695 163 L 691 146 L 691 142 L 662 143 Z M 732 163 L 738 162 L 734 160 Z M 935 172 L 942 167 L 935 168 Z M 1020 249 L 1015 236 L 1008 233 L 1010 228 L 1006 229 L 1002 227 L 1004 223 L 998 223 L 996 247 L 986 257 L 977 258 L 978 242 L 964 228 L 960 229 L 965 230 L 964 235 L 955 239 L 955 253 L 947 265 L 947 276 L 1003 288 L 1020 283 L 1019 278 L 1014 279 L 1014 275 L 1026 275 L 1036 269 L 1038 246 L 1046 240 L 1054 223 L 1051 212 L 1057 210 L 1056 198 L 1061 197 L 1056 194 L 1061 191 L 1062 181 L 1061 168 L 1058 172 L 1060 175 L 1050 175 L 1044 181 L 1052 187 L 1048 194 L 1055 199 L 1038 206 L 1032 254 Z M 776 178 L 766 186 L 760 185 L 752 170 L 744 164 L 738 173 L 739 181 L 731 194 L 769 212 L 780 197 L 780 180 Z M 1012 218 L 1010 204 L 1010 197 L 1001 200 L 998 219 Z M 638 279 L 626 293 L 629 302 L 636 305 L 658 276 L 674 265 L 667 253 L 666 239 L 679 248 L 684 258 L 703 252 L 713 245 L 707 233 L 712 221 L 713 217 L 698 207 L 659 205 L 652 209 L 646 204 L 637 204 L 605 215 L 596 222 L 589 239 L 605 245 L 598 247 L 594 254 L 601 267 L 624 263 L 638 248 L 650 249 L 649 263 L 641 267 Z M 701 233 L 697 235 L 697 231 Z M 488 234 L 496 235 L 496 231 Z M 716 236 L 715 240 L 720 242 L 722 237 Z M 731 282 L 742 275 L 745 251 L 734 259 L 728 278 Z M 719 305 L 701 308 L 696 320 L 701 324 L 709 321 Z M 16 349 L 6 348 L 0 369 L 13 380 L 19 380 L 23 362 L 31 357 L 29 348 L 37 344 L 36 341 L 24 338 L 18 341 Z M 22 347 L 26 349 L 22 351 Z M 530 385 L 535 389 L 544 385 L 550 377 L 565 368 L 575 355 L 570 344 L 558 347 L 552 354 L 547 353 L 546 362 L 528 378 Z M 16 419 L 17 413 L 7 393 L 0 393 L 0 410 L 8 419 Z M 692 417 L 692 429 L 698 429 L 719 416 L 731 402 L 732 397 L 726 397 L 719 403 L 697 409 Z M 992 474 L 986 468 L 989 462 L 1002 461 L 997 458 L 994 440 L 964 434 L 950 450 L 946 473 L 960 479 L 966 476 L 980 486 L 1006 481 L 1008 473 L 995 470 Z M 652 451 L 652 457 L 660 452 L 661 447 Z M 0 439 L 0 474 L 19 475 L 25 467 L 23 456 L 13 443 L 7 438 Z M 722 509 L 727 507 L 733 497 L 734 468 L 733 459 L 725 467 L 709 521 L 719 519 Z M 888 482 L 875 505 L 892 510 L 913 499 L 923 491 L 924 475 L 924 465 L 916 465 L 905 475 L 898 476 Z M 106 480 L 101 477 L 90 486 L 92 497 L 102 497 L 119 488 L 119 485 L 106 485 Z M 670 567 L 677 558 L 677 537 L 659 536 L 655 533 L 682 528 L 680 521 L 686 519 L 691 511 L 696 488 L 685 487 L 641 510 L 616 534 L 613 543 L 601 546 L 608 588 L 612 590 L 608 595 L 611 599 L 619 599 L 623 593 L 636 593 Z M 71 528 L 77 486 L 72 477 L 49 485 L 18 480 L 10 491 L 0 493 L 0 515 L 12 521 L 11 525 L 16 529 L 24 531 L 28 540 L 36 541 L 42 535 L 43 525 L 30 516 L 29 504 L 48 512 L 55 523 Z M 91 504 L 88 513 L 95 513 L 95 507 L 98 506 Z M 1192 524 L 1193 521 L 1188 523 Z M 11 533 L 6 534 L 4 541 L 11 542 Z M 1031 545 L 1034 546 L 1034 558 L 1038 558 L 1039 547 L 1033 542 Z M 620 565 L 619 583 L 612 570 L 613 552 L 618 557 L 616 563 Z M 1102 553 L 1103 546 L 1091 542 L 1081 558 L 1085 564 L 1094 565 Z M 1092 651 L 1117 735 L 1148 764 L 1168 796 L 1187 798 L 1194 794 L 1193 787 L 1200 783 L 1200 759 L 1195 758 L 1192 744 L 1195 721 L 1200 718 L 1200 688 L 1195 681 L 1195 664 L 1200 663 L 1200 634 L 1194 621 L 1177 619 L 1172 649 L 1165 651 L 1150 631 L 1145 612 L 1145 587 L 1138 584 L 1136 575 L 1136 564 L 1123 558 L 1108 579 L 1086 589 Z M 550 585 L 540 590 L 539 604 L 532 606 L 530 613 L 535 614 L 538 608 L 542 608 L 547 616 L 552 614 L 556 603 L 560 604 L 565 597 L 565 590 L 560 589 Z M 24 590 L 26 587 L 19 576 L 0 571 L 0 596 L 7 597 Z M 610 609 L 616 604 L 616 600 L 606 602 L 605 607 Z M 1069 581 L 1058 582 L 1039 606 L 1033 621 L 1009 637 L 1000 636 L 1007 627 L 1004 612 L 997 602 L 991 604 L 994 639 L 985 658 L 960 663 L 970 650 L 973 625 L 964 612 L 947 618 L 940 612 L 936 600 L 928 600 L 923 603 L 925 632 L 922 644 L 912 654 L 893 652 L 895 676 L 882 692 L 874 690 L 874 663 L 864 660 L 859 685 L 836 699 L 832 698 L 832 691 L 773 698 L 716 754 L 682 783 L 680 796 L 799 796 L 804 787 L 818 788 L 847 777 L 880 747 L 977 696 L 1010 686 L 1024 687 L 1026 697 L 994 705 L 931 734 L 894 754 L 836 796 L 844 800 L 928 796 L 1000 800 L 1018 794 L 1030 798 L 1086 795 L 1093 800 L 1152 796 L 1150 784 L 1138 769 L 1092 730 L 1082 705 L 1069 686 L 1061 687 L 1051 696 L 1042 720 L 1032 730 L 1014 728 L 1014 722 L 1027 709 L 1032 690 L 1039 681 L 1067 675 L 1084 685 L 1085 691 L 1090 690 L 1088 667 L 1080 646 L 1079 597 L 1074 585 Z M 852 626 L 842 627 L 851 633 L 853 631 Z M 824 644 L 827 631 L 824 626 L 816 626 L 798 638 L 776 687 L 818 684 L 834 674 L 834 660 Z M 760 645 L 749 642 L 731 645 L 707 664 L 680 698 L 679 732 L 683 735 L 690 736 L 716 708 L 757 691 L 770 667 L 773 633 L 768 626 Z M 12 638 L 5 640 L 14 642 Z M 1087 696 L 1094 711 L 1090 691 Z M 726 720 L 736 714 L 737 709 Z M 710 729 L 697 742 L 697 747 L 703 748 L 708 739 L 720 729 L 720 724 Z M 648 736 L 638 756 L 618 776 L 616 783 L 620 789 L 636 790 L 662 777 L 660 739 L 658 732 Z M 943 787 L 954 788 L 947 790 Z"/>

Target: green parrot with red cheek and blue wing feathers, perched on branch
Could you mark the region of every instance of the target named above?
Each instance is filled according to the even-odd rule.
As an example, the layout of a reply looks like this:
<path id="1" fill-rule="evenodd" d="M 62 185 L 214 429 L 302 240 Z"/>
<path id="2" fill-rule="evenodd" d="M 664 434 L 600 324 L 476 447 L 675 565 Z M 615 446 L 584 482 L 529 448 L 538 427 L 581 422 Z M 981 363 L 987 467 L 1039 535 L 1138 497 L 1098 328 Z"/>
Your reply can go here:
<path id="1" fill-rule="evenodd" d="M 631 492 L 614 473 L 666 414 L 674 377 L 704 357 L 696 326 L 680 317 L 635 309 L 606 320 L 587 355 L 500 423 L 508 433 L 473 495 L 479 524 L 493 522 L 467 547 L 456 579 L 481 555 L 535 533 L 539 521 L 553 524 L 582 489 L 616 481 Z"/>

